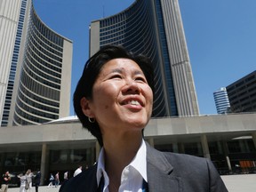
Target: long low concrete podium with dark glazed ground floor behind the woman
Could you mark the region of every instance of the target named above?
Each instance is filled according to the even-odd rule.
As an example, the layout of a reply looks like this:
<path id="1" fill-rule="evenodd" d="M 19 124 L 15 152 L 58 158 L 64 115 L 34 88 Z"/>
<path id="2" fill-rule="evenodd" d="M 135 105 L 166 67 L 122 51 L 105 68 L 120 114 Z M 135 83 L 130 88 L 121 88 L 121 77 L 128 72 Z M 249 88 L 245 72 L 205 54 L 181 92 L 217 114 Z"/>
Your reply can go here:
<path id="1" fill-rule="evenodd" d="M 255 171 L 255 113 L 152 118 L 144 135 L 161 151 L 210 158 L 220 174 Z M 78 165 L 92 166 L 99 153 L 97 140 L 76 117 L 5 127 L 0 133 L 0 172 L 40 169 L 42 184 L 48 184 L 50 173 L 60 172 L 60 181 L 67 171 L 73 177 Z"/>

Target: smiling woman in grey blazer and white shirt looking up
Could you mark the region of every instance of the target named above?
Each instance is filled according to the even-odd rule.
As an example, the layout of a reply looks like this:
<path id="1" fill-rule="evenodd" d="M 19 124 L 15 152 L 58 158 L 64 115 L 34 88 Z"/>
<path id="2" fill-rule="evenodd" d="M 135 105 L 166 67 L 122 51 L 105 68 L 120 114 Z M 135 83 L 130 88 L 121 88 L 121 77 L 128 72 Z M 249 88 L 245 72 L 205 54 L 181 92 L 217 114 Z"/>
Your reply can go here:
<path id="1" fill-rule="evenodd" d="M 209 160 L 163 153 L 143 140 L 153 105 L 151 66 L 114 45 L 87 61 L 74 108 L 102 148 L 98 163 L 60 191 L 227 191 Z"/>

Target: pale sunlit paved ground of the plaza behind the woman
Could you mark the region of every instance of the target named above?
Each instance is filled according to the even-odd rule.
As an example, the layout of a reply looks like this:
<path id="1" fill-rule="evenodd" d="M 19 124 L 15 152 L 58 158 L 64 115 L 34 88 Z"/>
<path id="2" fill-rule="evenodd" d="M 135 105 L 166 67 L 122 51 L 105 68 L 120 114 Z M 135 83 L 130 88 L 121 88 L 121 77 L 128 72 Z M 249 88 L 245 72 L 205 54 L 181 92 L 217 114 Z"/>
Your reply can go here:
<path id="1" fill-rule="evenodd" d="M 229 192 L 255 192 L 256 191 L 256 174 L 239 174 L 221 176 Z M 39 192 L 58 192 L 59 188 L 39 187 Z M 31 192 L 35 192 L 35 187 Z M 9 188 L 8 192 L 19 192 L 19 188 Z"/>

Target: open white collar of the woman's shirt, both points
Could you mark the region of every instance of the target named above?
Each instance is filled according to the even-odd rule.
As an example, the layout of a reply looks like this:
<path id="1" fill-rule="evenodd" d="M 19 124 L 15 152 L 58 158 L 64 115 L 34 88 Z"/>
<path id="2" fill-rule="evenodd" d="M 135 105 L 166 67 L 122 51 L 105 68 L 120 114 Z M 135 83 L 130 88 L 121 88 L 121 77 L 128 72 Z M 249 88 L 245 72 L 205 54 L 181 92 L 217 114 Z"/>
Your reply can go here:
<path id="1" fill-rule="evenodd" d="M 148 182 L 147 177 L 147 148 L 145 141 L 142 140 L 139 150 L 137 151 L 136 156 L 132 159 L 132 162 L 127 166 L 132 166 L 134 169 L 136 169 L 138 172 L 140 172 L 141 177 Z M 100 179 L 102 177 L 102 174 L 104 176 L 105 182 L 108 183 L 108 174 L 105 171 L 105 158 L 104 158 L 104 148 L 100 149 L 100 156 L 98 159 L 98 166 L 97 166 L 97 183 L 98 186 L 100 184 Z"/>

